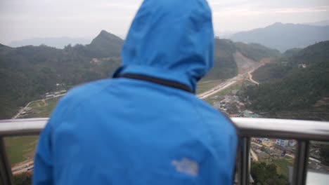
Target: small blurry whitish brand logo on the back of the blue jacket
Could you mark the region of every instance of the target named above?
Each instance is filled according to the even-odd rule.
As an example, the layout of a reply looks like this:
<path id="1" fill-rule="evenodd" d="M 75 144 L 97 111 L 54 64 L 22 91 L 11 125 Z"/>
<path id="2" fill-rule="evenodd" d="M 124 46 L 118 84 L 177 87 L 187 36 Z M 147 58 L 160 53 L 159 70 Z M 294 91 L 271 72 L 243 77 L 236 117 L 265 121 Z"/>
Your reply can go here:
<path id="1" fill-rule="evenodd" d="M 176 167 L 176 171 L 193 177 L 198 176 L 199 165 L 189 158 L 181 158 L 181 160 L 172 160 L 172 165 Z"/>

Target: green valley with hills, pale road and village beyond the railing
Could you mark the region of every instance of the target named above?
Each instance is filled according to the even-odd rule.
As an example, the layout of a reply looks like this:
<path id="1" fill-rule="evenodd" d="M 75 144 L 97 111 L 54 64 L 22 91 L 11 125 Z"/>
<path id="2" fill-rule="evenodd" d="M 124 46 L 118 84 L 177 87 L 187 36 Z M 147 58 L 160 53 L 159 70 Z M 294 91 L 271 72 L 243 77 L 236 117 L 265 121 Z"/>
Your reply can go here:
<path id="1" fill-rule="evenodd" d="M 328 41 L 283 54 L 255 43 L 214 41 L 214 67 L 198 83 L 200 99 L 231 117 L 329 120 Z M 0 78 L 0 85 L 5 90 L 0 96 L 1 118 L 49 117 L 61 91 L 110 78 L 121 64 L 122 43 L 117 36 L 102 31 L 86 46 L 66 46 L 63 50 L 1 45 L 0 72 L 4 78 Z M 283 100 L 285 96 L 290 99 Z M 291 104 L 295 100 L 297 103 Z M 37 141 L 37 136 L 4 139 L 15 175 L 33 170 Z M 252 151 L 259 162 L 264 161 L 263 154 L 256 148 Z M 288 156 L 271 159 L 279 174 L 288 173 L 293 154 Z"/>

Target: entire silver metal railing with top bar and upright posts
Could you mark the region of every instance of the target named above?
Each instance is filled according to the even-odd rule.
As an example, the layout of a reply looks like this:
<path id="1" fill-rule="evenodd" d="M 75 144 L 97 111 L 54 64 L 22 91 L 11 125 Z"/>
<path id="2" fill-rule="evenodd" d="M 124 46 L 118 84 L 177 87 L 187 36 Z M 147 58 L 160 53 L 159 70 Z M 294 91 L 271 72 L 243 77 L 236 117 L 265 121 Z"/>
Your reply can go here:
<path id="1" fill-rule="evenodd" d="M 39 135 L 47 121 L 48 118 L 0 121 L 0 175 L 3 184 L 13 184 L 4 137 Z M 292 179 L 294 185 L 306 184 L 309 142 L 311 140 L 329 142 L 329 122 L 269 118 L 232 118 L 232 121 L 236 125 L 240 141 L 237 153 L 237 174 L 238 184 L 241 185 L 249 184 L 251 137 L 297 140 Z"/>

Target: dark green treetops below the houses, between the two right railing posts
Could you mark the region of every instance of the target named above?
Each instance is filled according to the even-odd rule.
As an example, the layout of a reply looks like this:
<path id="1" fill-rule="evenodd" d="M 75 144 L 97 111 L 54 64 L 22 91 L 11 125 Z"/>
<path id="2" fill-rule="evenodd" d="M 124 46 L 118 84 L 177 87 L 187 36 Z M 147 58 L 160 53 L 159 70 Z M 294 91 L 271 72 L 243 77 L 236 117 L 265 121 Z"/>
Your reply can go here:
<path id="1" fill-rule="evenodd" d="M 250 173 L 254 179 L 254 184 L 289 184 L 288 178 L 282 174 L 278 174 L 277 167 L 274 164 L 266 165 L 266 163 L 252 163 Z"/>

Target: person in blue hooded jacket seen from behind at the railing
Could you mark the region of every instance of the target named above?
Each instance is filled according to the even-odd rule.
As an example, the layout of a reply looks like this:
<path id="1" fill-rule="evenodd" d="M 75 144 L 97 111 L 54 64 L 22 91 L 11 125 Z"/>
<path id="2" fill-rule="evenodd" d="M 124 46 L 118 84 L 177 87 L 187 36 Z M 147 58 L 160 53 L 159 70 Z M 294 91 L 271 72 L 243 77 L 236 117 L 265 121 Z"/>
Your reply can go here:
<path id="1" fill-rule="evenodd" d="M 53 111 L 33 184 L 233 184 L 236 130 L 194 95 L 213 55 L 207 1 L 143 1 L 114 78 Z"/>

